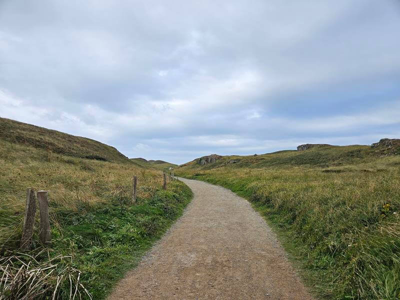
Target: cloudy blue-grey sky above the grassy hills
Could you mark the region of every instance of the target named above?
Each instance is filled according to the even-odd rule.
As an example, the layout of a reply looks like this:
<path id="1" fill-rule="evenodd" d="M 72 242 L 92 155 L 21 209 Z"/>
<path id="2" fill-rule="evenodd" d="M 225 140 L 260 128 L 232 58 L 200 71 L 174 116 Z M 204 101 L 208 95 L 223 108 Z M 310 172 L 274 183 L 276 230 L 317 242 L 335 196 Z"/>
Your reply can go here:
<path id="1" fill-rule="evenodd" d="M 400 137 L 400 1 L 0 0 L 0 116 L 175 163 Z"/>

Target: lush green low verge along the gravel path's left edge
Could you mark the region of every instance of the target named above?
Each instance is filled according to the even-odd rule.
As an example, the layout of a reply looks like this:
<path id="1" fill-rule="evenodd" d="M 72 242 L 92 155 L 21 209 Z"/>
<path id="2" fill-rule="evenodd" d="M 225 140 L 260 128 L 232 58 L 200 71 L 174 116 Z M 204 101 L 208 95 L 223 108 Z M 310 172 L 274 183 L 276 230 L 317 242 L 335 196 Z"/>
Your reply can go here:
<path id="1" fill-rule="evenodd" d="M 74 267 L 83 272 L 82 283 L 94 299 L 103 299 L 183 212 L 190 189 L 176 180 L 168 185 L 168 190 L 158 190 L 122 213 L 118 203 L 111 202 L 68 216 L 59 231 L 53 230 L 54 250 L 73 255 Z"/>

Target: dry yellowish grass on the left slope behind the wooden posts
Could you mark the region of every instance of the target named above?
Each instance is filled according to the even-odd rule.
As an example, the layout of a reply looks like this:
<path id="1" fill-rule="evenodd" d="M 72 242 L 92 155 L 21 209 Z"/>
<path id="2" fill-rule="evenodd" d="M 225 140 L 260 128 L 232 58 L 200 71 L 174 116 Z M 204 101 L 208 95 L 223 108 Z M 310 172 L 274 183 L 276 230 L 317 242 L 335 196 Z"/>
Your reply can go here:
<path id="1" fill-rule="evenodd" d="M 25 190 L 48 190 L 50 218 L 59 213 L 90 209 L 114 198 L 119 188 L 126 198 L 132 177 L 138 177 L 137 197 L 149 198 L 160 186 L 160 172 L 133 164 L 113 163 L 58 155 L 2 141 L 0 144 L 0 248 L 17 246 L 24 212 Z"/>

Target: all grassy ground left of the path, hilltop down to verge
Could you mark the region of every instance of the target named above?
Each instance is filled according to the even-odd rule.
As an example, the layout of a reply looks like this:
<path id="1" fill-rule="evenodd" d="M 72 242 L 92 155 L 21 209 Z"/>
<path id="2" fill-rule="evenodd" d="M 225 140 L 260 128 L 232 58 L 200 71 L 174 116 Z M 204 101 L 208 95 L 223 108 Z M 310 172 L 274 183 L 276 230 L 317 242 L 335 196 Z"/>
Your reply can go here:
<path id="1" fill-rule="evenodd" d="M 0 133 L 0 265 L 5 268 L 12 261 L 19 268 L 23 261 L 30 261 L 34 268 L 55 266 L 45 278 L 43 289 L 36 288 L 42 294 L 31 299 L 52 298 L 61 275 L 57 296 L 69 298 L 68 276 L 71 275 L 75 287 L 79 271 L 79 282 L 93 299 L 104 298 L 182 213 L 191 198 L 190 189 L 177 180 L 168 182 L 167 190 L 161 189 L 159 170 L 132 163 L 112 147 L 7 119 L 0 121 L 1 128 L 11 126 Z M 37 146 L 43 140 L 49 141 L 45 149 Z M 76 145 L 70 147 L 71 143 Z M 106 161 L 82 158 L 90 155 L 104 157 Z M 138 177 L 135 204 L 130 203 L 133 175 Z M 49 194 L 51 246 L 48 252 L 42 251 L 38 242 L 37 211 L 33 236 L 36 242 L 26 252 L 37 261 L 18 254 L 28 187 L 36 191 L 45 189 Z M 13 298 L 10 290 L 3 289 L 2 280 L 0 299 Z M 15 286 L 19 288 L 21 284 Z M 85 298 L 82 289 L 80 292 Z"/>

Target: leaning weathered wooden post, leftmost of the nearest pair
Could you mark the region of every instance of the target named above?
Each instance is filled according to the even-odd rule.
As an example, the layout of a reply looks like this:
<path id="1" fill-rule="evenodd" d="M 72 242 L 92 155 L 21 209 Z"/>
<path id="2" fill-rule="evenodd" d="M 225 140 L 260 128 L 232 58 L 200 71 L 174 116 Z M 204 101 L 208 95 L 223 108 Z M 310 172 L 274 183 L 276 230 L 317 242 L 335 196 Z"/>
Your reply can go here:
<path id="1" fill-rule="evenodd" d="M 26 189 L 25 201 L 25 215 L 23 217 L 23 229 L 20 247 L 22 249 L 29 249 L 33 235 L 34 215 L 36 213 L 36 198 L 34 196 L 34 189 Z"/>

